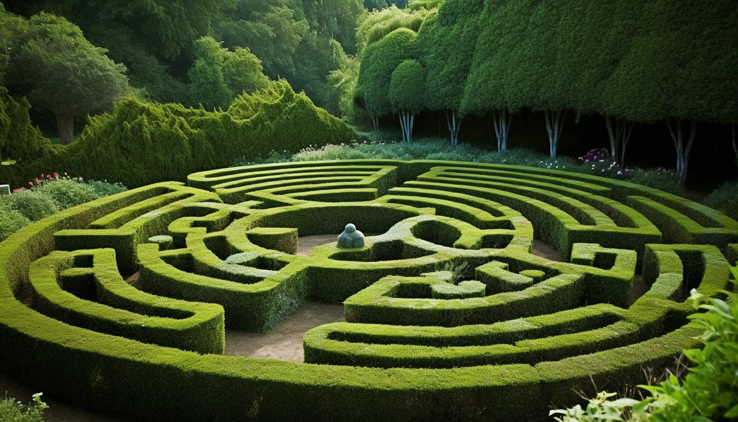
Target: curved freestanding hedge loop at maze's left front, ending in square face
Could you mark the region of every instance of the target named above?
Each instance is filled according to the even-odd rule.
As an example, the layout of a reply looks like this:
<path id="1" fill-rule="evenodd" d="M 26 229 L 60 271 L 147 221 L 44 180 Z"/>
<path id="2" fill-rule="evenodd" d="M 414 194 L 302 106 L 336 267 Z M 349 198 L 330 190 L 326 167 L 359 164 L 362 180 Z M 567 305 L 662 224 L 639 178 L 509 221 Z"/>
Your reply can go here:
<path id="1" fill-rule="evenodd" d="M 33 308 L 66 324 L 198 353 L 224 351 L 222 307 L 142 293 L 123 281 L 112 249 L 52 252 L 33 262 L 29 278 Z"/>

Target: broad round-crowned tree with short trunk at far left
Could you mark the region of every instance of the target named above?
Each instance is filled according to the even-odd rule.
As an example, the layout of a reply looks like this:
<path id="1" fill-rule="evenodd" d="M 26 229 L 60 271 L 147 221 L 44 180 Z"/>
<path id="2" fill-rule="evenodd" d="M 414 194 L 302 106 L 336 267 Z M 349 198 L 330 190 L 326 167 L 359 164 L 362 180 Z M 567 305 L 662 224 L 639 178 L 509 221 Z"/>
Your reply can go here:
<path id="1" fill-rule="evenodd" d="M 65 18 L 41 13 L 30 19 L 27 39 L 11 60 L 11 81 L 28 90 L 31 103 L 54 112 L 63 144 L 72 142 L 77 113 L 111 109 L 129 92 L 125 66 L 106 52 Z"/>

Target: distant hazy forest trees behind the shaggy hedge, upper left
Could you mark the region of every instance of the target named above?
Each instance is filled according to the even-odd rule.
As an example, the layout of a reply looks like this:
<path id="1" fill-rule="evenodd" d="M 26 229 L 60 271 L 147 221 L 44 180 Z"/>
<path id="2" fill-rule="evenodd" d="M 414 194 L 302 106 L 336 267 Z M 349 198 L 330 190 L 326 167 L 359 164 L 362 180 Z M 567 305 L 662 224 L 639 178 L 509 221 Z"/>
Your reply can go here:
<path id="1" fill-rule="evenodd" d="M 296 92 L 304 90 L 323 106 L 325 77 L 338 68 L 335 57 L 356 53 L 356 26 L 367 13 L 360 0 L 30 0 L 6 7 L 26 18 L 45 12 L 76 24 L 92 44 L 125 65 L 141 95 L 206 108 L 212 98 L 204 82 L 220 93 L 221 103 L 227 95 L 213 76 L 212 60 L 202 63 L 201 38 L 237 54 L 248 50 L 266 76 L 286 78 Z M 240 88 L 231 91 L 241 94 Z"/>

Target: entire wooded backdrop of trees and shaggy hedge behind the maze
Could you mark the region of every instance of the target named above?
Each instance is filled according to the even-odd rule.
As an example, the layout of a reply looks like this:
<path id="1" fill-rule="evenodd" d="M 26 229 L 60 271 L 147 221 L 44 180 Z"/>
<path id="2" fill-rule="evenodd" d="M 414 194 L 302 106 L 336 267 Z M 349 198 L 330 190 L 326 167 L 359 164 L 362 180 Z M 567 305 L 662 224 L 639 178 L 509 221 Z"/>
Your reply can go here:
<path id="1" fill-rule="evenodd" d="M 0 176 L 14 186 L 60 167 L 139 186 L 413 137 L 551 160 L 604 148 L 682 186 L 687 169 L 707 186 L 736 174 L 732 2 L 2 4 L 0 158 L 15 164 Z"/>

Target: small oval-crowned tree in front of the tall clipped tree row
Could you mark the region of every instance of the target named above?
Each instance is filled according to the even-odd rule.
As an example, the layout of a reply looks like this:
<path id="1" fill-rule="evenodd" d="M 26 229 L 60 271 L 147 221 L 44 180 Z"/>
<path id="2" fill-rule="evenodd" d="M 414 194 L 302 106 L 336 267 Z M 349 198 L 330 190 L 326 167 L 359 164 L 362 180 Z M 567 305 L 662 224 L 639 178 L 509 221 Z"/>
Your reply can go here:
<path id="1" fill-rule="evenodd" d="M 390 78 L 390 103 L 399 115 L 402 140 L 413 140 L 415 115 L 421 112 L 425 94 L 425 69 L 418 61 L 403 61 Z"/>

